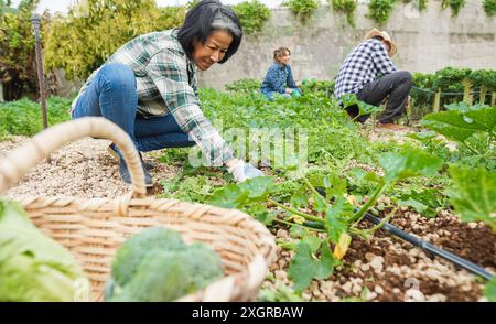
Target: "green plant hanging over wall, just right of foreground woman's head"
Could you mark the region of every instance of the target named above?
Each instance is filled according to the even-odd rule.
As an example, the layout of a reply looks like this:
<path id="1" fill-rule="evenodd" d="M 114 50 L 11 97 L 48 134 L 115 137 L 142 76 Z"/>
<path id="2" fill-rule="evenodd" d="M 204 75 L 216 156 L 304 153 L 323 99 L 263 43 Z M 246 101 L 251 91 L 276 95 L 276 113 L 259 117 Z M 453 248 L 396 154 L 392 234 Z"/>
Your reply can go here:
<path id="1" fill-rule="evenodd" d="M 241 21 L 247 34 L 261 31 L 263 23 L 270 18 L 270 9 L 258 0 L 245 1 L 233 6 L 234 12 Z"/>

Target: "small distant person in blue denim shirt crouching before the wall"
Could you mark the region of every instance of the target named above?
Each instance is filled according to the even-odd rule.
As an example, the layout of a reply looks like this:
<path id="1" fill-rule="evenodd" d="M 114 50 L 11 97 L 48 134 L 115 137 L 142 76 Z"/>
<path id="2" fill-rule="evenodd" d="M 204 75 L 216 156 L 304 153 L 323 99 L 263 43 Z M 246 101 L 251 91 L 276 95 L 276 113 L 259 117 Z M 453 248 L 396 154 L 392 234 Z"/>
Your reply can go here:
<path id="1" fill-rule="evenodd" d="M 288 64 L 290 57 L 291 51 L 287 47 L 280 47 L 273 51 L 274 64 L 269 67 L 260 88 L 260 91 L 266 95 L 270 101 L 274 99 L 276 94 L 285 97 L 301 96 L 301 89 L 294 82 L 291 66 Z"/>

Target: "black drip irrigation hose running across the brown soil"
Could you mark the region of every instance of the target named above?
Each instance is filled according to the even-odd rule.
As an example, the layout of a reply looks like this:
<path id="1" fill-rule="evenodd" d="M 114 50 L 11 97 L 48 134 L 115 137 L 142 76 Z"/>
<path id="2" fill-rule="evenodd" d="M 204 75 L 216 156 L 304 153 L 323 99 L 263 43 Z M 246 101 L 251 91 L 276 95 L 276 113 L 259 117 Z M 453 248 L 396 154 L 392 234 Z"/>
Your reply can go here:
<path id="1" fill-rule="evenodd" d="M 317 187 L 316 190 L 322 196 L 324 196 L 324 197 L 326 196 L 325 195 L 325 191 L 323 188 Z M 355 212 L 357 212 L 357 210 L 358 209 L 355 208 Z M 371 222 L 374 225 L 378 225 L 381 222 L 380 218 L 371 215 L 368 212 L 365 214 L 364 218 L 369 220 L 369 222 Z M 492 280 L 493 277 L 494 277 L 493 273 L 490 273 L 489 271 L 485 270 L 484 268 L 482 268 L 482 267 L 479 267 L 479 266 L 477 266 L 477 264 L 475 264 L 475 263 L 473 263 L 473 262 L 471 262 L 468 260 L 465 260 L 465 259 L 463 259 L 463 258 L 461 258 L 459 256 L 455 256 L 452 252 L 445 251 L 445 250 L 443 250 L 443 249 L 441 249 L 441 248 L 439 248 L 436 246 L 433 246 L 433 245 L 431 245 L 431 244 L 429 244 L 427 241 L 423 241 L 422 239 L 420 239 L 418 237 L 414 237 L 414 236 L 412 236 L 412 235 L 410 235 L 410 234 L 399 229 L 398 227 L 392 226 L 389 223 L 385 223 L 384 226 L 381 227 L 381 229 L 385 229 L 385 230 L 389 231 L 390 234 L 392 234 L 392 235 L 395 235 L 395 236 L 397 236 L 397 237 L 408 241 L 409 244 L 412 244 L 413 246 L 416 246 L 418 248 L 421 248 L 424 251 L 430 252 L 431 255 L 434 255 L 436 257 L 443 258 L 443 259 L 445 259 L 445 260 L 448 260 L 450 262 L 453 262 L 454 264 L 456 264 L 456 266 L 459 266 L 459 267 L 461 267 L 461 268 L 463 268 L 463 269 L 465 269 L 465 270 L 467 270 L 467 271 L 470 271 L 472 273 L 481 276 L 484 279 Z"/>

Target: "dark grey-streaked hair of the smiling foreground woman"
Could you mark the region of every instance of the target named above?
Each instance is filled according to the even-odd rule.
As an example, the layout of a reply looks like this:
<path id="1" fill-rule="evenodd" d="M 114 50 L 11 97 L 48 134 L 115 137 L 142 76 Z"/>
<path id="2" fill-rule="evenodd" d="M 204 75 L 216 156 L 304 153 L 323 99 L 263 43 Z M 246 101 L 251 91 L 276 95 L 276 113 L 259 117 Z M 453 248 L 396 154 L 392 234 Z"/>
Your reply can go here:
<path id="1" fill-rule="evenodd" d="M 192 57 L 193 43 L 197 41 L 204 44 L 206 39 L 218 30 L 226 31 L 233 36 L 226 55 L 218 62 L 224 63 L 238 51 L 242 39 L 242 28 L 234 11 L 220 1 L 203 0 L 190 10 L 184 24 L 179 29 L 177 40 L 187 56 Z"/>

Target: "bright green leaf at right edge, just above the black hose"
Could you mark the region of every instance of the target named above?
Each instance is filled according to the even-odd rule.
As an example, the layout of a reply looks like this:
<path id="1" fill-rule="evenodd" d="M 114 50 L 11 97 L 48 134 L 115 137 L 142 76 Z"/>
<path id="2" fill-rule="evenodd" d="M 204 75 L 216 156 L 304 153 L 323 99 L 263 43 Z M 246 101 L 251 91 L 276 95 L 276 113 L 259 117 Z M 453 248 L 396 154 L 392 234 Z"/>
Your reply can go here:
<path id="1" fill-rule="evenodd" d="M 448 194 L 455 213 L 464 222 L 485 222 L 496 231 L 496 172 L 452 165 L 450 175 L 453 185 Z"/>

